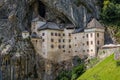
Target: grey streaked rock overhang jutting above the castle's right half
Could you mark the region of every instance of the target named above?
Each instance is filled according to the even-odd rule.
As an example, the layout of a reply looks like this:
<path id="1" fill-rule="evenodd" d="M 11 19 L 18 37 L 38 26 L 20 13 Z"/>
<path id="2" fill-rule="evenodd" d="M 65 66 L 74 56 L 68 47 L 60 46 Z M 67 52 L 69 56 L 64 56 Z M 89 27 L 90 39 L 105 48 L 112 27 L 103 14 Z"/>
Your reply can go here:
<path id="1" fill-rule="evenodd" d="M 100 0 L 41 0 L 41 2 L 56 14 L 57 18 L 67 18 L 76 27 L 85 27 L 91 17 L 99 18 Z"/>

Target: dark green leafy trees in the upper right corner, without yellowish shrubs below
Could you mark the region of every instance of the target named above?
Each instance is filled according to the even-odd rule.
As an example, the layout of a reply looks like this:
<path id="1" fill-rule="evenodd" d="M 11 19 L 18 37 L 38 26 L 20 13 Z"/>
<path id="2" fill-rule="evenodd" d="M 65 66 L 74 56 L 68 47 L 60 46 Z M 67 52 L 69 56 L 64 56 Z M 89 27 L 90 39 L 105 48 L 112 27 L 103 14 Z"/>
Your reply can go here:
<path id="1" fill-rule="evenodd" d="M 104 0 L 101 19 L 104 23 L 120 26 L 120 2 L 118 0 Z"/>

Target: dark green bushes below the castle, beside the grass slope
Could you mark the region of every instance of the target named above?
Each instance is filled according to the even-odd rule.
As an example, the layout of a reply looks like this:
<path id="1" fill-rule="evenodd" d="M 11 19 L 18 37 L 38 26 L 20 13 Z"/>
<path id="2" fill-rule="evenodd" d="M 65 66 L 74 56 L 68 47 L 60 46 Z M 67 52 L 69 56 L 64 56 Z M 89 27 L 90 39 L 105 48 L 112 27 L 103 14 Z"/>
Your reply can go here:
<path id="1" fill-rule="evenodd" d="M 56 80 L 76 80 L 80 75 L 85 72 L 84 62 L 79 58 L 78 64 L 72 70 L 62 70 Z"/>

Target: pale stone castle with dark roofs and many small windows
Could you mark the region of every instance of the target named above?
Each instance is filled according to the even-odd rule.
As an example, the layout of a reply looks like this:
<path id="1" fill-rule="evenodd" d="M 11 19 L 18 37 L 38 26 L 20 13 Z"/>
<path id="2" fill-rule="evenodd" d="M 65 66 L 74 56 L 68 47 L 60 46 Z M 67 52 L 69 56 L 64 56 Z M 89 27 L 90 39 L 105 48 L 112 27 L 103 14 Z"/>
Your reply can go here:
<path id="1" fill-rule="evenodd" d="M 95 57 L 104 45 L 104 27 L 93 18 L 83 31 L 75 33 L 74 28 L 35 19 L 31 22 L 31 42 L 38 54 L 53 61 L 73 56 Z"/>

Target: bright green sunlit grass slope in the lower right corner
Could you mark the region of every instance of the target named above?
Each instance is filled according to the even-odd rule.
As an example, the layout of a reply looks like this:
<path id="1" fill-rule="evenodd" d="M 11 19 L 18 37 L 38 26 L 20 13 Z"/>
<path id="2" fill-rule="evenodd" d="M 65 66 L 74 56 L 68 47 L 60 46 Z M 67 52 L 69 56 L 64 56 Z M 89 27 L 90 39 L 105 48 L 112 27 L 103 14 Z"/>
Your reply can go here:
<path id="1" fill-rule="evenodd" d="M 120 80 L 120 62 L 109 56 L 95 67 L 87 70 L 77 80 Z"/>

